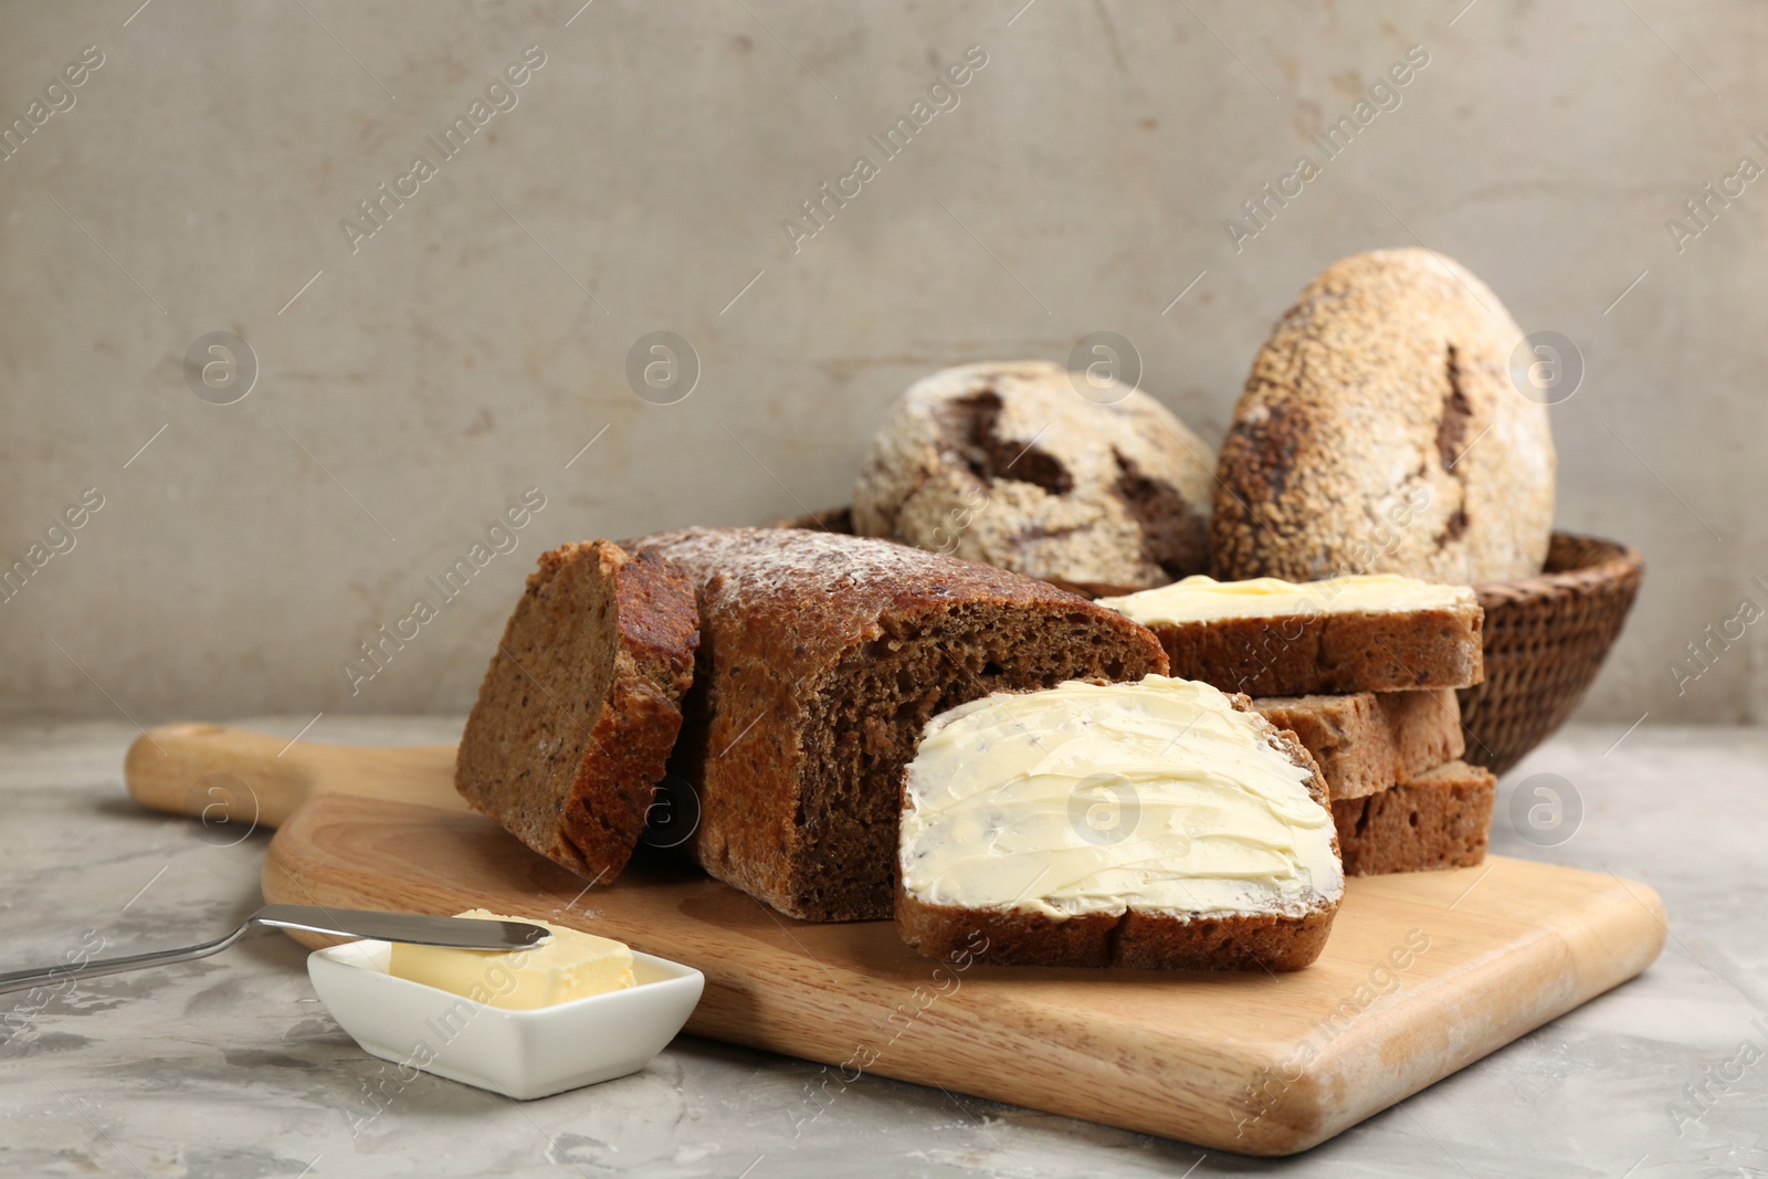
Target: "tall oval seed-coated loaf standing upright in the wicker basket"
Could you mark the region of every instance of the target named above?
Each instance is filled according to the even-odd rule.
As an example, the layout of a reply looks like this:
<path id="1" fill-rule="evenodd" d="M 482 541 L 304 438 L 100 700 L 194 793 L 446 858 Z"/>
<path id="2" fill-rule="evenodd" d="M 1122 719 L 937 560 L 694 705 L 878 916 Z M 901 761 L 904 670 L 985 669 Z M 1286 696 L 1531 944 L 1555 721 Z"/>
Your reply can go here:
<path id="1" fill-rule="evenodd" d="M 1540 573 L 1552 534 L 1547 407 L 1510 380 L 1522 329 L 1427 249 L 1315 278 L 1259 350 L 1216 465 L 1220 578 Z"/>

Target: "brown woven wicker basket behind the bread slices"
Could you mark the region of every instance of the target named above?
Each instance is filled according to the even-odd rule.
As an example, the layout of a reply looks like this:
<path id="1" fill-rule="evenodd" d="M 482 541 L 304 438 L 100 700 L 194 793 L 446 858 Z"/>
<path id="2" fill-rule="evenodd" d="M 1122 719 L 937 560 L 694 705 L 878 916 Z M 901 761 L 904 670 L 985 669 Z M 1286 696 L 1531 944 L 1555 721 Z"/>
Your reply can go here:
<path id="1" fill-rule="evenodd" d="M 854 520 L 831 507 L 776 527 L 852 532 Z M 1619 636 L 1644 567 L 1625 544 L 1554 532 L 1543 573 L 1475 587 L 1485 682 L 1460 689 L 1466 760 L 1501 774 L 1565 723 Z"/>

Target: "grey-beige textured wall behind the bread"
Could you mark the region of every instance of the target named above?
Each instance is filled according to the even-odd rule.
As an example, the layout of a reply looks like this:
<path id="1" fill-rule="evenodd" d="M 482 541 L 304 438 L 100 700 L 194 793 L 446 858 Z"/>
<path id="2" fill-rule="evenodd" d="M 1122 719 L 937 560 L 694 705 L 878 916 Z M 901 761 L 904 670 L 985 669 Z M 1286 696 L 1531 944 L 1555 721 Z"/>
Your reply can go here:
<path id="1" fill-rule="evenodd" d="M 0 118 L 28 126 L 0 161 L 0 559 L 83 525 L 0 605 L 0 704 L 463 711 L 543 546 L 845 502 L 912 378 L 1094 331 L 1215 442 L 1314 272 L 1421 240 L 1582 352 L 1559 523 L 1651 562 L 1584 714 L 1763 718 L 1757 628 L 1681 691 L 1669 663 L 1768 606 L 1768 184 L 1738 175 L 1768 164 L 1768 7 L 1020 4 L 0 9 Z M 1411 46 L 1324 159 L 1310 134 Z M 955 106 L 879 152 L 967 51 Z M 1305 152 L 1321 173 L 1231 242 Z M 824 182 L 857 194 L 789 233 Z M 658 331 L 698 357 L 672 405 L 626 377 Z M 187 380 L 209 332 L 256 357 L 232 405 L 242 368 Z M 339 665 L 474 555 L 352 693 Z"/>

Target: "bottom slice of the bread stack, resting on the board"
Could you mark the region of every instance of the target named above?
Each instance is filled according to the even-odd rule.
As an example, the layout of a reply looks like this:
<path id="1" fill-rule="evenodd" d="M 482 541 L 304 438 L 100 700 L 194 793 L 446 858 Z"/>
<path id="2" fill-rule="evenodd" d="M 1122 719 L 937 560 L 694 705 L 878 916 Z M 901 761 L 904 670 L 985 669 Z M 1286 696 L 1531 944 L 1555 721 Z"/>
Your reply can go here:
<path id="1" fill-rule="evenodd" d="M 1450 762 L 1406 785 L 1333 802 L 1345 873 L 1376 877 L 1478 864 L 1492 831 L 1496 788 L 1490 771 Z"/>

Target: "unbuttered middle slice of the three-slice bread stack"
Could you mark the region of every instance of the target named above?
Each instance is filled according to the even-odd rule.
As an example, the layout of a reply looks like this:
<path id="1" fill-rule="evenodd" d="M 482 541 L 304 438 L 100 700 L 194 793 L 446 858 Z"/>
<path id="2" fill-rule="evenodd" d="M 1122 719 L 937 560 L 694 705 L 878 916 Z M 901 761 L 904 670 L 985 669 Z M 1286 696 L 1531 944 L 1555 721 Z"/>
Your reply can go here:
<path id="1" fill-rule="evenodd" d="M 1261 696 L 1252 707 L 1314 755 L 1333 802 L 1386 790 L 1467 751 L 1453 688 Z"/>

